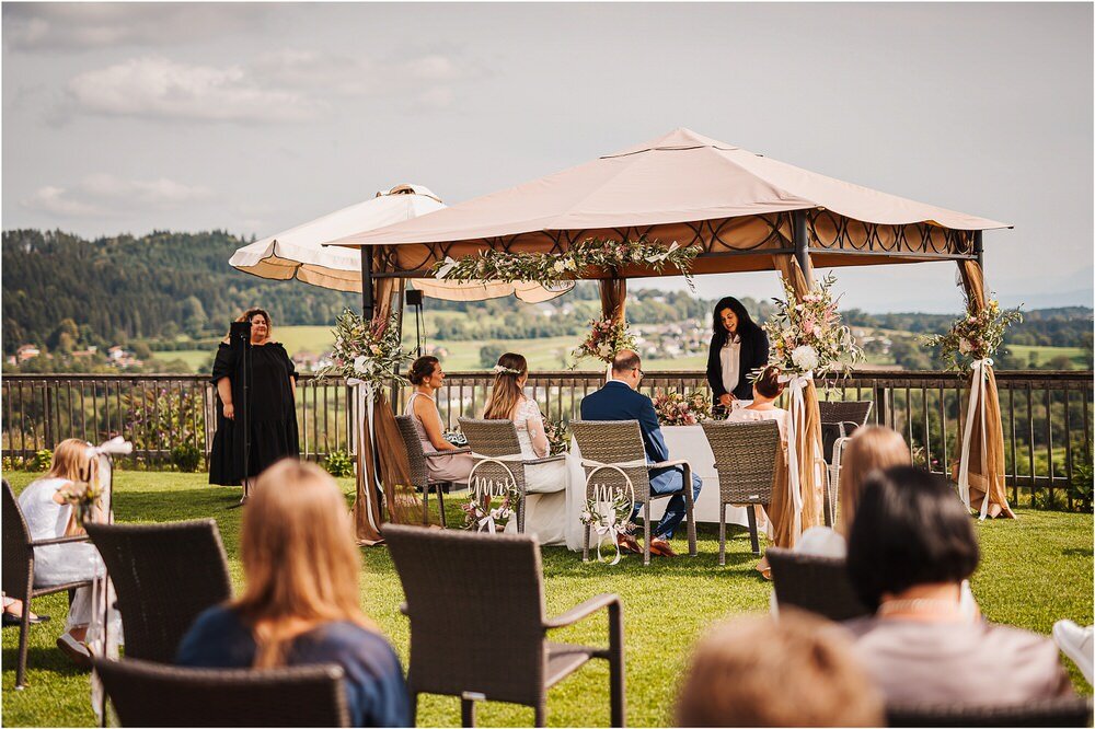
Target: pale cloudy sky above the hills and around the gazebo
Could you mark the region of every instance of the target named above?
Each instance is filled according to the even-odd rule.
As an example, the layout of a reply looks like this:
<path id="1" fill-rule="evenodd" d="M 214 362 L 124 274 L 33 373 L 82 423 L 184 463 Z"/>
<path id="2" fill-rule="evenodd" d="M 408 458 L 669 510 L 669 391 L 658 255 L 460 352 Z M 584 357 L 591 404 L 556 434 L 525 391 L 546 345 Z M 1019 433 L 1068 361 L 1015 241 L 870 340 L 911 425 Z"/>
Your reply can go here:
<path id="1" fill-rule="evenodd" d="M 688 127 L 1012 223 L 984 235 L 1001 301 L 1092 305 L 1091 3 L 4 2 L 2 14 L 5 230 L 263 238 L 396 184 L 453 205 Z M 961 308 L 950 263 L 835 274 L 844 306 Z M 780 293 L 773 273 L 698 286 Z"/>

